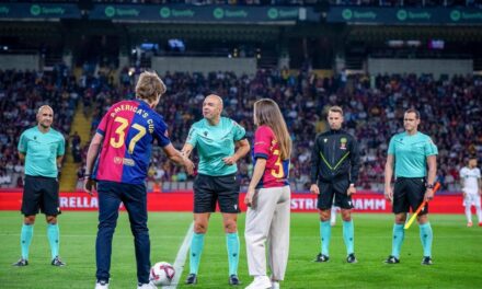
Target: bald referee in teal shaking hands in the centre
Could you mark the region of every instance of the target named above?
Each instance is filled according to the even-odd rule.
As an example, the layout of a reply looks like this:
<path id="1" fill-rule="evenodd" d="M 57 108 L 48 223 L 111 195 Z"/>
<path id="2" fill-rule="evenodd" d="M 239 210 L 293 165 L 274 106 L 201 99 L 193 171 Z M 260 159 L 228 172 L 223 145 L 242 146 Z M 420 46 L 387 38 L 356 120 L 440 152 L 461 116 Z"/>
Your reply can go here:
<path id="1" fill-rule="evenodd" d="M 199 155 L 198 174 L 194 181 L 194 235 L 191 242 L 190 275 L 186 279 L 188 285 L 197 282 L 204 236 L 216 204 L 222 213 L 226 232 L 229 284 L 240 284 L 237 226 L 240 185 L 236 178 L 236 163 L 250 151 L 250 143 L 245 139 L 244 128 L 230 118 L 221 117 L 221 97 L 215 94 L 206 96 L 203 103 L 204 118 L 193 124 L 182 150 L 188 157 L 196 148 Z"/>

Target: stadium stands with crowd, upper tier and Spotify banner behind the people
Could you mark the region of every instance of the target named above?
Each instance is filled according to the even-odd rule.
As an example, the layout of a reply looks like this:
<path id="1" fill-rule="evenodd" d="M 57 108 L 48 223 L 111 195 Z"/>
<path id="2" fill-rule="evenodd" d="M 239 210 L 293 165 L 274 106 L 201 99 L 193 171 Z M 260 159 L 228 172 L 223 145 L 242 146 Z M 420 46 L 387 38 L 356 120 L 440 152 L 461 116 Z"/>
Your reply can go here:
<path id="1" fill-rule="evenodd" d="M 481 0 L 71 0 L 0 3 L 0 188 L 19 192 L 16 146 L 49 104 L 66 139 L 61 192 L 81 188 L 90 138 L 144 70 L 168 86 L 157 107 L 182 148 L 208 93 L 252 141 L 252 104 L 271 97 L 294 139 L 290 178 L 309 188 L 311 146 L 341 105 L 362 150 L 357 187 L 381 193 L 390 137 L 403 112 L 438 146 L 438 180 L 482 151 Z M 251 157 L 239 162 L 243 188 Z M 148 189 L 190 190 L 192 177 L 153 151 Z"/>

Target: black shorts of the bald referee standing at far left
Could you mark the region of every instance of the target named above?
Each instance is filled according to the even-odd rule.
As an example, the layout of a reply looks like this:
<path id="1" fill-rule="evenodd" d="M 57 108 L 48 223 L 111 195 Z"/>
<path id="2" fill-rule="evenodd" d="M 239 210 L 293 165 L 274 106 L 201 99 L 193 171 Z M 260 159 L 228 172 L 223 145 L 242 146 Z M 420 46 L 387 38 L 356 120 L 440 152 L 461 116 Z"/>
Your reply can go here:
<path id="1" fill-rule="evenodd" d="M 34 216 L 41 210 L 46 216 L 60 213 L 58 181 L 56 177 L 25 175 L 22 213 Z"/>

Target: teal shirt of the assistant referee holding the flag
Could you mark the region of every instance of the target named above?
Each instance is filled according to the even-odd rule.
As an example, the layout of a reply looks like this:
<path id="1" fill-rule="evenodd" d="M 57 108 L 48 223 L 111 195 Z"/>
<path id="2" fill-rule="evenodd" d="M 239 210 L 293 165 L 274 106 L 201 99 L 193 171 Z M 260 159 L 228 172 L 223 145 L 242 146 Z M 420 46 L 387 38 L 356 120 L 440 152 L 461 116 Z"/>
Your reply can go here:
<path id="1" fill-rule="evenodd" d="M 417 131 L 410 136 L 404 131 L 390 139 L 388 154 L 394 157 L 395 177 L 425 177 L 427 157 L 438 154 L 438 149 L 427 135 Z"/>

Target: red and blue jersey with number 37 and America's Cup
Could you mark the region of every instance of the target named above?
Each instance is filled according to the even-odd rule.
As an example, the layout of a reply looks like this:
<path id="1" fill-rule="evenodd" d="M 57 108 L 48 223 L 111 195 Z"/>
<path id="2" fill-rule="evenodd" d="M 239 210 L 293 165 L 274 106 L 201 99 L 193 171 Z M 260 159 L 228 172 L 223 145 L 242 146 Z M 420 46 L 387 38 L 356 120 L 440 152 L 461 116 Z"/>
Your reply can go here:
<path id="1" fill-rule="evenodd" d="M 140 100 L 114 104 L 96 131 L 104 137 L 93 171 L 97 181 L 142 184 L 152 141 L 157 139 L 161 147 L 171 143 L 162 116 Z"/>

